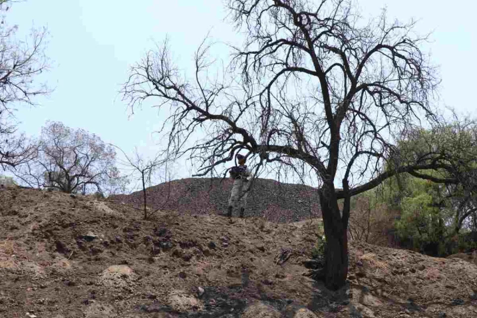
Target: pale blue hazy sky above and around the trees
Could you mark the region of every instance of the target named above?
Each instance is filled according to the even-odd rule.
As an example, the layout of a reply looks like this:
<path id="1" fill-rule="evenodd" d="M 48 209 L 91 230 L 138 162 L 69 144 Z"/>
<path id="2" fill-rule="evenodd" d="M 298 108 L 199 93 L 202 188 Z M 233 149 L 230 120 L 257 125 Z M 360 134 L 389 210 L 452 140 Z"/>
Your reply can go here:
<path id="1" fill-rule="evenodd" d="M 388 8 L 391 18 L 419 19 L 417 31 L 433 31 L 428 50 L 440 66 L 440 103 L 476 113 L 477 2 L 471 0 L 357 0 L 363 15 Z M 139 146 L 153 154 L 160 141 L 152 135 L 157 112 L 130 112 L 118 91 L 130 65 L 167 35 L 184 71 L 210 32 L 215 40 L 239 41 L 224 22 L 222 0 L 26 0 L 14 3 L 8 24 L 20 33 L 46 26 L 51 71 L 44 79 L 54 88 L 36 108 L 19 107 L 20 128 L 35 136 L 47 119 L 83 128 L 126 152 Z M 157 126 L 156 126 L 157 128 Z M 182 169 L 177 177 L 190 176 Z"/>

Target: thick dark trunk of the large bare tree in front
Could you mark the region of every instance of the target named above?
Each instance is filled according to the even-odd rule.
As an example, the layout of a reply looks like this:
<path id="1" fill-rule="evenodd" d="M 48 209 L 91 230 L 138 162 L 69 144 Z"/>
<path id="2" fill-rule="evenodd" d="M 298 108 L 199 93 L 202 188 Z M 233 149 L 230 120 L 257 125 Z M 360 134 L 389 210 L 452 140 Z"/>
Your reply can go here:
<path id="1" fill-rule="evenodd" d="M 347 220 L 340 214 L 333 188 L 321 189 L 319 201 L 326 236 L 324 282 L 326 288 L 338 290 L 348 276 Z"/>

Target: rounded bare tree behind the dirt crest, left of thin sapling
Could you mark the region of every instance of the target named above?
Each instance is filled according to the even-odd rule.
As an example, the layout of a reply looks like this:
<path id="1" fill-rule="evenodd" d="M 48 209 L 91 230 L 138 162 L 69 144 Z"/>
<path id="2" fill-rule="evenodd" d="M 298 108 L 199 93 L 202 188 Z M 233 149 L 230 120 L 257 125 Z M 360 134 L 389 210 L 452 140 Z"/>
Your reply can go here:
<path id="1" fill-rule="evenodd" d="M 47 122 L 42 129 L 37 156 L 15 174 L 30 186 L 39 188 L 111 194 L 123 190 L 127 182 L 120 176 L 115 159 L 114 148 L 98 136 L 60 122 Z"/>

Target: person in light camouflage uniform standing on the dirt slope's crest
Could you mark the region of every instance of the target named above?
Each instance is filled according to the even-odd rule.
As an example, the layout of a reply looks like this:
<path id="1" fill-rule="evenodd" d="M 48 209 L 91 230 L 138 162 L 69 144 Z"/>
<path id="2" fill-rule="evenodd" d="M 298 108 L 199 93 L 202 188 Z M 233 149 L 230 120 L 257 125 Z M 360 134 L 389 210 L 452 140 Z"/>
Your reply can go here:
<path id="1" fill-rule="evenodd" d="M 248 177 L 250 176 L 250 170 L 245 165 L 245 157 L 238 154 L 237 162 L 238 166 L 230 169 L 230 177 L 234 179 L 234 185 L 232 186 L 232 192 L 229 199 L 229 208 L 227 210 L 227 216 L 232 217 L 232 210 L 236 207 L 240 208 L 240 218 L 243 218 L 243 212 L 247 203 L 248 195 Z"/>

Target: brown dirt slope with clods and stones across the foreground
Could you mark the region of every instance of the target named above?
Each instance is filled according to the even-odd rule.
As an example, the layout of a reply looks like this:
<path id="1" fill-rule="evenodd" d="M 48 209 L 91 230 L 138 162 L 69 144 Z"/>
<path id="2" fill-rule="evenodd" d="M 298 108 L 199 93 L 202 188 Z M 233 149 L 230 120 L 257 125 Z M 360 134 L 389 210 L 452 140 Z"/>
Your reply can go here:
<path id="1" fill-rule="evenodd" d="M 477 266 L 350 243 L 349 286 L 306 274 L 319 220 L 270 223 L 0 189 L 0 317 L 477 317 Z"/>

